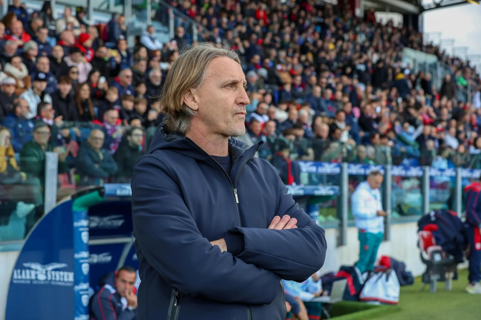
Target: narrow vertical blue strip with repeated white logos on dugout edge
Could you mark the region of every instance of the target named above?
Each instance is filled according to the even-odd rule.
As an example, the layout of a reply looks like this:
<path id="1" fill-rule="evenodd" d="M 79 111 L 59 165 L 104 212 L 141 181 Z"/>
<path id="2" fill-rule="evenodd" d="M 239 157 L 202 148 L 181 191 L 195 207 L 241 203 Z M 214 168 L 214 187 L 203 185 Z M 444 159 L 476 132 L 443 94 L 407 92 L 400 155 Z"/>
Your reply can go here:
<path id="1" fill-rule="evenodd" d="M 74 320 L 89 320 L 89 217 L 87 210 L 73 212 Z"/>

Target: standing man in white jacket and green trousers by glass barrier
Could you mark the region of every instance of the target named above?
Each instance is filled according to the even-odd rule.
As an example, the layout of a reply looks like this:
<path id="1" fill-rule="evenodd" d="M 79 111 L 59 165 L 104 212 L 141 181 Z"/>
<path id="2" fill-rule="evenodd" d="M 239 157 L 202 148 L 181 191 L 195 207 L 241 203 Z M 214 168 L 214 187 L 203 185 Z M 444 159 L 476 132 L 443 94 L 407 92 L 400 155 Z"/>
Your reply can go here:
<path id="1" fill-rule="evenodd" d="M 359 229 L 359 260 L 356 267 L 361 273 L 374 269 L 378 249 L 384 237 L 384 217 L 381 191 L 382 174 L 372 171 L 367 181 L 361 182 L 351 197 L 356 227 Z"/>

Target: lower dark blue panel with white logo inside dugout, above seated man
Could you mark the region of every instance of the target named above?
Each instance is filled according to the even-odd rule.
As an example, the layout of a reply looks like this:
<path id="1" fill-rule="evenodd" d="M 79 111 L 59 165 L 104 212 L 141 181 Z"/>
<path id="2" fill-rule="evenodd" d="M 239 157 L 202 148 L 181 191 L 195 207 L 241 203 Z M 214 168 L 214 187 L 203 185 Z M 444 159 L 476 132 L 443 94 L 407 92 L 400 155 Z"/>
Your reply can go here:
<path id="1" fill-rule="evenodd" d="M 99 279 L 105 273 L 111 273 L 117 269 L 125 243 L 104 244 L 89 247 L 90 285 L 97 290 Z"/>

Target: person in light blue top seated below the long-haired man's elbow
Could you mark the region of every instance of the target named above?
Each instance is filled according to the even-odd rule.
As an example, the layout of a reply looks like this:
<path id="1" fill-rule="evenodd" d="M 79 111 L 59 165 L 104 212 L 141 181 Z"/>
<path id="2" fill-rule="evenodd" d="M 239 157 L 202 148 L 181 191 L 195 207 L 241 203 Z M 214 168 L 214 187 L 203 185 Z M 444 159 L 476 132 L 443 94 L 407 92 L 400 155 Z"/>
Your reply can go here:
<path id="1" fill-rule="evenodd" d="M 322 295 L 322 283 L 317 273 L 314 273 L 303 283 L 282 280 L 284 290 L 294 297 L 299 304 L 300 310 L 296 314 L 292 308 L 291 320 L 319 320 L 322 314 L 322 303 L 309 301 Z"/>

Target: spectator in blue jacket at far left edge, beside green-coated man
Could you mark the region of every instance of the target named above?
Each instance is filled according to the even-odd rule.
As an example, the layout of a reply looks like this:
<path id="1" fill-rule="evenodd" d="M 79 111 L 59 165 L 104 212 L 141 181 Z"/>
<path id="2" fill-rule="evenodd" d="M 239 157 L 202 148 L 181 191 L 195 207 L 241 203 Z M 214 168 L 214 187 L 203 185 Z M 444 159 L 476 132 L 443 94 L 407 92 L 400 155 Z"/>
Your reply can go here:
<path id="1" fill-rule="evenodd" d="M 11 132 L 11 143 L 13 150 L 19 153 L 26 142 L 32 140 L 34 122 L 28 119 L 30 107 L 24 99 L 17 99 L 13 102 L 13 112 L 3 118 L 2 126 Z"/>

